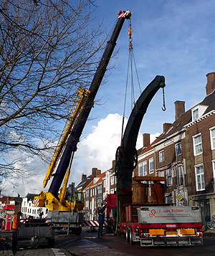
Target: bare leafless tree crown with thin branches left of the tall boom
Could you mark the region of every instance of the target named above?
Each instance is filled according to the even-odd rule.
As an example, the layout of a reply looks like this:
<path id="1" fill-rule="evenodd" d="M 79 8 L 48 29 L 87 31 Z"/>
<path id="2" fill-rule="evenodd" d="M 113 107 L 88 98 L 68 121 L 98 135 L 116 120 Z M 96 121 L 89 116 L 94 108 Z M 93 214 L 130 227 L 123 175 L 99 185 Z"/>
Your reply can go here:
<path id="1" fill-rule="evenodd" d="M 91 82 L 103 32 L 89 27 L 89 1 L 72 3 L 1 1 L 0 176 L 25 174 L 31 157 L 46 158 L 77 88 Z"/>

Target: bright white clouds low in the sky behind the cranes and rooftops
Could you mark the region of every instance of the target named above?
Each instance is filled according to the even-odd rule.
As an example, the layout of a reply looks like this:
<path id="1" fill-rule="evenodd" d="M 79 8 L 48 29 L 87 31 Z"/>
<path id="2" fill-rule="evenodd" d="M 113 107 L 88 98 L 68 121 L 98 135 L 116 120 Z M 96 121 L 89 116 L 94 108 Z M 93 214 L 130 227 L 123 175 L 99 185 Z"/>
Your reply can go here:
<path id="1" fill-rule="evenodd" d="M 112 167 L 115 159 L 115 151 L 120 146 L 122 115 L 109 114 L 105 119 L 101 119 L 96 126 L 92 127 L 92 132 L 82 138 L 75 153 L 72 163 L 70 182 L 75 185 L 81 181 L 82 174 L 90 175 L 92 168 L 97 167 L 102 172 Z M 125 119 L 124 128 L 127 124 Z M 151 142 L 155 140 L 159 133 L 151 135 Z M 139 133 L 136 148 L 143 146 L 143 136 Z M 39 194 L 39 191 L 47 191 L 50 181 L 45 189 L 42 188 L 43 180 L 47 172 L 48 164 L 42 163 L 39 158 L 29 163 L 29 168 L 34 169 L 32 176 L 14 177 L 4 181 L 2 184 L 2 194 L 7 196 L 26 196 L 28 193 Z"/>

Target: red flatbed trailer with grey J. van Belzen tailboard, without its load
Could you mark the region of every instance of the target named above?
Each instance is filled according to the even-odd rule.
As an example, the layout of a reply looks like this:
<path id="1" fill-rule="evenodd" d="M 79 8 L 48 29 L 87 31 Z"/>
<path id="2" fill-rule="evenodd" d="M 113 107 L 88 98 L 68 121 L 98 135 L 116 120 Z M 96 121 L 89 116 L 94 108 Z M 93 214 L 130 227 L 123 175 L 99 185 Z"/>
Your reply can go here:
<path id="1" fill-rule="evenodd" d="M 168 207 L 128 204 L 125 222 L 118 223 L 118 232 L 126 242 L 141 246 L 202 245 L 202 222 L 199 207 Z"/>

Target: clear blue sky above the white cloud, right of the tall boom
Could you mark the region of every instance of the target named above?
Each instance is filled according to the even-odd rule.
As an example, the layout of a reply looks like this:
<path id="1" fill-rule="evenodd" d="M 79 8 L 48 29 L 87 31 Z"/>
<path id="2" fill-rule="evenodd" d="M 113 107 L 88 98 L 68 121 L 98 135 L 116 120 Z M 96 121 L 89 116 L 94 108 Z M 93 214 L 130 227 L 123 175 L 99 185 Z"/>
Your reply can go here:
<path id="1" fill-rule="evenodd" d="M 105 14 L 104 26 L 108 30 L 112 29 L 118 10 L 133 12 L 133 48 L 142 90 L 156 75 L 166 77 L 166 112 L 161 111 L 162 93 L 159 91 L 140 129 L 141 133 L 161 133 L 163 123 L 173 122 L 176 100 L 186 101 L 186 109 L 189 109 L 205 96 L 206 74 L 214 71 L 215 2 L 97 1 L 97 5 L 96 19 L 102 19 Z M 92 113 L 98 118 L 105 118 L 107 113 L 123 113 L 128 67 L 127 22 L 116 49 L 119 50 L 118 60 L 110 62 L 115 69 L 108 72 L 108 82 L 97 95 L 105 105 Z M 126 117 L 129 115 L 130 108 Z"/>

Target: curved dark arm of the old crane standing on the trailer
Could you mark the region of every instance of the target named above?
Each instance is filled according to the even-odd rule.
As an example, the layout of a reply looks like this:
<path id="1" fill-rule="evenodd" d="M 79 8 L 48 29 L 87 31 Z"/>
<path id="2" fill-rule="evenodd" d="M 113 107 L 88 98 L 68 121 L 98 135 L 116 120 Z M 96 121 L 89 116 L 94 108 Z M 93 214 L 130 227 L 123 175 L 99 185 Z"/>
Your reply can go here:
<path id="1" fill-rule="evenodd" d="M 136 142 L 143 116 L 149 103 L 160 88 L 165 87 L 165 78 L 157 75 L 155 79 L 141 93 L 133 107 L 128 123 L 123 134 L 122 145 L 116 152 L 116 175 L 118 176 L 118 201 L 119 207 L 132 201 L 132 174 L 134 158 L 136 156 Z M 137 160 L 137 159 L 136 159 Z M 123 212 L 123 208 L 121 209 Z"/>

